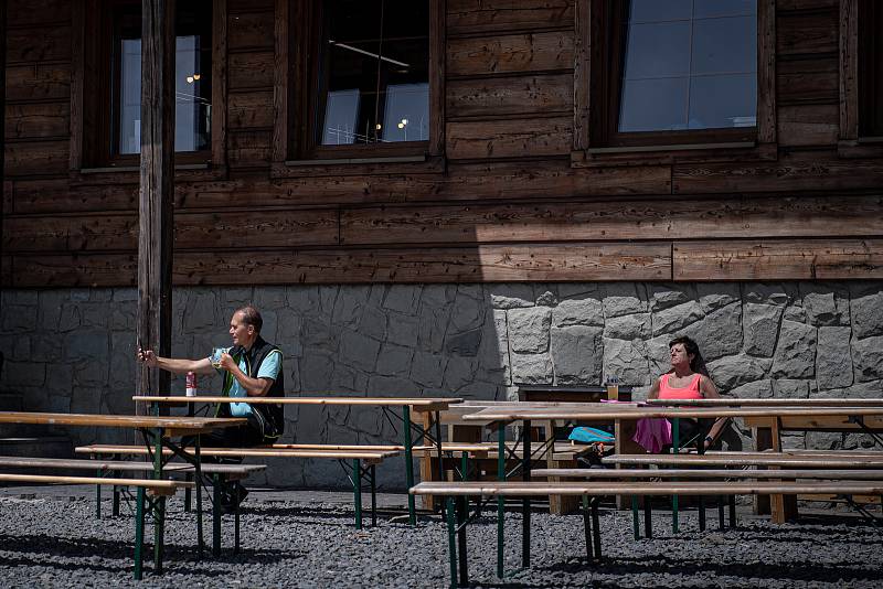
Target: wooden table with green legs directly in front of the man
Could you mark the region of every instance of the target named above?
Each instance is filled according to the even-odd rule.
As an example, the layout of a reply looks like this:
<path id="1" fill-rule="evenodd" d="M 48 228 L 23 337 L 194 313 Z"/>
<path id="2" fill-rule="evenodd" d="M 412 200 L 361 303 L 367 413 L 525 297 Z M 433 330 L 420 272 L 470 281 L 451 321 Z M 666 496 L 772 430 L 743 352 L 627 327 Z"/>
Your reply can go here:
<path id="1" fill-rule="evenodd" d="M 155 409 L 160 404 L 167 405 L 181 405 L 190 403 L 248 403 L 248 404 L 268 404 L 268 405 L 347 405 L 347 406 L 372 406 L 380 407 L 387 415 L 391 414 L 390 409 L 398 407 L 402 409 L 402 429 L 403 429 L 403 446 L 405 449 L 405 479 L 407 488 L 414 486 L 414 441 L 412 438 L 412 429 L 416 430 L 417 439 L 428 440 L 434 443 L 438 451 L 439 468 L 442 464 L 442 420 L 440 411 L 447 410 L 450 405 L 462 403 L 461 398 L 448 397 L 343 397 L 343 396 L 316 396 L 316 397 L 219 397 L 219 396 L 169 396 L 169 397 L 149 397 L 149 396 L 135 396 L 136 401 L 145 401 L 153 404 Z M 423 415 L 422 426 L 416 426 L 411 417 L 411 414 Z M 398 416 L 392 413 L 393 416 Z M 435 432 L 430 431 L 435 429 Z M 443 475 L 444 479 L 444 475 Z M 411 493 L 407 495 L 407 512 L 411 525 L 417 523 L 417 511 L 415 497 Z"/>

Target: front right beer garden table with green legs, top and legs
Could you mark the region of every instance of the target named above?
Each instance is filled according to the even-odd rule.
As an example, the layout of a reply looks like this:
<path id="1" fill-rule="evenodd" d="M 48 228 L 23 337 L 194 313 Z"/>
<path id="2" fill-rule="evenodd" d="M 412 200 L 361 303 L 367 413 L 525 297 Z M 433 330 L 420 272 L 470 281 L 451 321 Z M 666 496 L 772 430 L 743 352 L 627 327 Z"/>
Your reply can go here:
<path id="1" fill-rule="evenodd" d="M 728 400 L 728 399 L 727 399 Z M 498 476 L 501 481 L 506 480 L 506 469 L 503 468 L 506 452 L 506 425 L 512 421 L 523 422 L 521 443 L 529 448 L 530 430 L 532 420 L 565 420 L 581 422 L 597 422 L 615 425 L 617 453 L 631 442 L 634 426 L 639 419 L 643 418 L 666 418 L 672 420 L 672 450 L 678 451 L 678 420 L 681 418 L 690 419 L 715 419 L 719 417 L 742 417 L 746 421 L 749 419 L 765 420 L 764 422 L 780 422 L 788 419 L 816 419 L 816 420 L 858 420 L 858 422 L 873 421 L 883 425 L 883 406 L 874 407 L 664 407 L 648 406 L 637 403 L 609 403 L 609 404 L 555 404 L 543 407 L 542 404 L 533 403 L 526 407 L 519 407 L 518 404 L 488 407 L 480 411 L 465 415 L 465 421 L 497 421 L 498 428 L 498 456 L 500 464 Z M 627 427 L 629 425 L 630 427 Z M 628 439 L 626 439 L 626 437 Z M 627 452 L 635 453 L 635 452 Z M 639 453 L 643 453 L 643 449 Z M 523 452 L 521 475 L 522 480 L 529 481 L 531 478 L 530 452 Z M 675 497 L 677 499 L 677 497 Z M 522 565 L 530 566 L 530 499 L 522 499 Z M 503 556 L 503 499 L 498 497 L 498 523 L 497 523 L 497 559 L 501 567 Z M 673 511 L 677 503 L 673 503 Z M 677 527 L 677 524 L 675 524 Z"/>

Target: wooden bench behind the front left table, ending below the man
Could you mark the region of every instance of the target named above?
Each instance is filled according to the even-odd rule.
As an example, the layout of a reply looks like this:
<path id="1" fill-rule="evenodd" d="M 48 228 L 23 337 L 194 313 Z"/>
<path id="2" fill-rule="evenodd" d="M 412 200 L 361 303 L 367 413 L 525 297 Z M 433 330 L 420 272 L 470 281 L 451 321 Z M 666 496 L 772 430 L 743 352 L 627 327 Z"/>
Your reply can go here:
<path id="1" fill-rule="evenodd" d="M 143 448 L 141 448 L 143 449 Z M 153 472 L 152 462 L 132 462 L 120 460 L 77 460 L 64 458 L 22 458 L 22 457 L 0 457 L 0 468 L 4 469 L 55 469 L 66 470 L 92 470 L 102 473 L 107 472 Z M 221 554 L 221 484 L 226 481 L 240 481 L 249 474 L 266 469 L 264 464 L 201 464 L 202 474 L 212 476 L 214 486 L 214 497 L 212 501 L 212 553 L 217 556 Z M 168 462 L 162 467 L 163 474 L 184 474 L 192 476 L 196 469 L 185 462 Z M 102 517 L 102 486 L 95 485 L 95 516 Z M 114 485 L 113 514 L 119 515 L 119 489 L 125 485 Z M 185 488 L 184 511 L 190 511 L 190 486 Z M 201 495 L 196 495 L 196 508 L 201 510 Z M 233 553 L 240 551 L 240 510 L 234 512 L 234 544 Z"/>

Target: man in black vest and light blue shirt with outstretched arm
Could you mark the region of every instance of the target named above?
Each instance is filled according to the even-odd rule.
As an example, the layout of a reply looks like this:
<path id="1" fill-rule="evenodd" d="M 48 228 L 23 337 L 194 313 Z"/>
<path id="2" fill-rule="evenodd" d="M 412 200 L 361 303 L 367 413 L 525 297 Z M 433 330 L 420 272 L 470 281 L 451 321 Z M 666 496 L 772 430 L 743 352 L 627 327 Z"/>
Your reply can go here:
<path id="1" fill-rule="evenodd" d="M 233 346 L 212 360 L 167 358 L 158 356 L 152 350 L 138 349 L 138 361 L 174 374 L 194 372 L 213 374 L 217 371 L 224 378 L 222 396 L 225 397 L 284 397 L 283 354 L 260 336 L 264 320 L 252 306 L 243 307 L 230 320 L 230 335 Z M 215 408 L 215 417 L 245 417 L 248 425 L 240 428 L 223 428 L 202 436 L 206 448 L 242 448 L 273 443 L 279 439 L 285 427 L 281 405 L 248 403 L 221 403 Z M 248 491 L 238 482 L 222 493 L 226 511 L 245 499 Z"/>

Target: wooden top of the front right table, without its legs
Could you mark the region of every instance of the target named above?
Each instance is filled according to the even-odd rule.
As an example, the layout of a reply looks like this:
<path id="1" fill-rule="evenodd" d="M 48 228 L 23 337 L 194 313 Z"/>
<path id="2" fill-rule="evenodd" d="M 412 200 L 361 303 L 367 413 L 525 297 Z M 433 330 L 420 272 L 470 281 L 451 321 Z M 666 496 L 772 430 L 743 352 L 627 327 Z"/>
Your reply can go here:
<path id="1" fill-rule="evenodd" d="M 883 407 L 653 407 L 637 404 L 572 404 L 555 407 L 488 407 L 462 416 L 464 421 L 519 421 L 543 419 L 571 420 L 614 420 L 640 419 L 643 417 L 664 418 L 710 418 L 717 417 L 825 417 L 883 416 Z"/>

